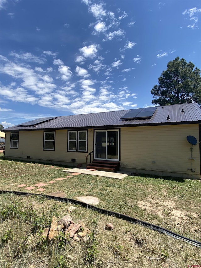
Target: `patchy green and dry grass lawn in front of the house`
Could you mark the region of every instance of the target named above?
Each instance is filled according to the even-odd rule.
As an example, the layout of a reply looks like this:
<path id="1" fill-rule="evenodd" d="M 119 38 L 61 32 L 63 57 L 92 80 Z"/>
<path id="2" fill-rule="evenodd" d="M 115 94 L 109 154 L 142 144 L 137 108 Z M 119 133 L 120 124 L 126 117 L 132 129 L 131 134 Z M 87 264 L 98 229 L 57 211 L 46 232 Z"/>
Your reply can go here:
<path id="1" fill-rule="evenodd" d="M 62 171 L 66 169 L 62 166 L 47 165 L 45 167 L 44 164 L 37 165 L 38 163 L 4 161 L 3 156 L 0 157 L 0 160 L 2 160 L 0 161 L 1 190 L 39 193 L 38 187 L 33 190 L 25 190 L 17 185 L 34 186 L 36 183 L 47 183 L 70 175 L 70 173 Z M 57 169 L 58 167 L 60 169 Z M 100 200 L 97 206 L 100 208 L 159 225 L 201 242 L 200 180 L 136 175 L 127 176 L 120 181 L 80 174 L 62 181 L 56 180 L 56 183 L 53 184 L 47 183 L 43 188 L 45 191 L 42 194 L 62 191 L 67 198 L 71 199 L 76 199 L 76 196 L 88 195 L 97 197 Z M 50 218 L 54 213 L 57 214 L 55 216 L 67 214 L 67 204 L 46 200 L 42 197 L 39 199 L 2 194 L 0 198 L 4 209 L 6 204 L 10 204 L 21 207 L 21 211 L 23 211 L 30 206 L 23 207 L 23 204 L 34 203 L 35 215 L 41 216 L 44 211 Z M 51 268 L 89 267 L 89 265 L 91 267 L 138 267 L 139 265 L 143 267 L 187 267 L 187 265 L 201 265 L 201 249 L 195 246 L 140 225 L 101 215 L 78 205 L 76 207 L 77 209 L 73 211 L 74 222 L 82 220 L 91 230 L 95 230 L 96 241 L 92 248 L 97 249 L 97 256 L 91 263 L 86 262 L 86 252 L 87 249 L 90 249 L 90 245 L 83 243 L 68 243 L 65 250 L 62 249 L 63 251 L 55 250 L 57 245 L 52 244 L 51 250 L 47 250 L 46 254 L 38 250 L 36 246 L 27 245 L 27 250 L 22 254 L 17 254 L 17 257 L 14 258 L 14 254 L 11 252 L 16 250 L 8 248 L 8 245 L 14 244 L 14 239 L 9 238 L 9 243 L 1 243 L 0 250 L 3 254 L 0 254 L 0 267 L 29 267 L 29 265 Z M 38 217 L 36 216 L 36 218 Z M 8 224 L 13 232 L 17 232 L 19 224 L 24 226 L 24 220 L 21 219 L 19 222 L 19 218 L 17 220 L 13 216 L 8 221 L 2 221 L 0 236 L 5 236 Z M 107 222 L 114 225 L 115 228 L 112 232 L 104 231 L 104 225 Z M 14 236 L 19 237 L 18 240 L 21 241 L 22 237 L 33 235 L 31 230 L 31 226 L 26 224 L 24 232 L 17 232 Z M 74 256 L 76 261 L 66 260 L 68 250 L 68 254 Z M 30 257 L 28 258 L 28 256 Z M 61 256 L 65 258 L 62 257 L 60 260 Z"/>

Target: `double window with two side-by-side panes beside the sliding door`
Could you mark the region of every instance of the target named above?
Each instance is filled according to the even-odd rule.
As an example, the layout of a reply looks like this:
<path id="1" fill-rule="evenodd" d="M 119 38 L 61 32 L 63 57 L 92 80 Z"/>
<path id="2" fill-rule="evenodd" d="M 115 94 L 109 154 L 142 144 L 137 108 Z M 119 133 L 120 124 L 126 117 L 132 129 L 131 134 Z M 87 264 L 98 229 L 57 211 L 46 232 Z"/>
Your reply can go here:
<path id="1" fill-rule="evenodd" d="M 87 130 L 68 131 L 68 151 L 87 151 Z"/>

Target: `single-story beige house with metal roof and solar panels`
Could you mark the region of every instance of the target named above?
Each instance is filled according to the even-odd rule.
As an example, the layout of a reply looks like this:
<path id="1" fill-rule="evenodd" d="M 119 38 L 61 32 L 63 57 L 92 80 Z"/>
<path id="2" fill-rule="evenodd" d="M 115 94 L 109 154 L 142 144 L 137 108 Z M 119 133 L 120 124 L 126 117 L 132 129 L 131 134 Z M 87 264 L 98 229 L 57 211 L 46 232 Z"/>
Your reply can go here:
<path id="1" fill-rule="evenodd" d="M 200 178 L 201 143 L 187 141 L 201 140 L 196 103 L 39 118 L 3 131 L 6 158 L 86 166 L 91 153 L 88 165 Z"/>

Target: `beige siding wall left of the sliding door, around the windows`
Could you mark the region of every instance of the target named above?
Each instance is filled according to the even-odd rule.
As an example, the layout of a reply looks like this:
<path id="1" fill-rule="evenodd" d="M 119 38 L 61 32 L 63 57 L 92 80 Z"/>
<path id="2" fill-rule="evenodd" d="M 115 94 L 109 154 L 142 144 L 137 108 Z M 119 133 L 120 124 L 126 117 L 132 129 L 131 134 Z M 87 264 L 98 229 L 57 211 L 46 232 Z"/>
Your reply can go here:
<path id="1" fill-rule="evenodd" d="M 19 131 L 18 149 L 10 149 L 10 132 L 6 133 L 5 156 L 27 159 L 85 163 L 87 152 L 67 152 L 67 130 L 56 130 L 55 151 L 43 150 L 43 131 Z M 88 152 L 93 150 L 93 129 L 88 130 Z M 73 163 L 73 162 L 72 162 Z"/>

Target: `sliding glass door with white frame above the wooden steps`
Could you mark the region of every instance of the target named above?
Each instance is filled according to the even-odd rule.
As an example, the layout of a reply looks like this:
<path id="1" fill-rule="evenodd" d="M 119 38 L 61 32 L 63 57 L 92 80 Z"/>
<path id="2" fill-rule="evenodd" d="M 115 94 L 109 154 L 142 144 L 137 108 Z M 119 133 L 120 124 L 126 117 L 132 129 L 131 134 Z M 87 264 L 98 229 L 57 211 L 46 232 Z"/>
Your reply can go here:
<path id="1" fill-rule="evenodd" d="M 119 161 L 119 130 L 95 130 L 95 159 Z"/>

